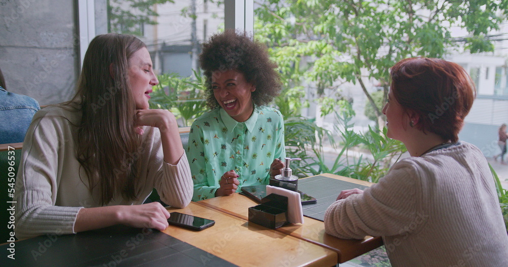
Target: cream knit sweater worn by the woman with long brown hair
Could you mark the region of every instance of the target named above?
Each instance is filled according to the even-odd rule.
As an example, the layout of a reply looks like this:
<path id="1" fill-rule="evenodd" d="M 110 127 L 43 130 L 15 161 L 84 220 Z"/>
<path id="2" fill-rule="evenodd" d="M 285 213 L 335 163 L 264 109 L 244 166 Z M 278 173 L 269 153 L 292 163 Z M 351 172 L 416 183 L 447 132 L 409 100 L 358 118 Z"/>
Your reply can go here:
<path id="1" fill-rule="evenodd" d="M 88 190 L 88 176 L 76 160 L 75 127 L 79 112 L 49 106 L 36 113 L 23 143 L 16 177 L 16 237 L 74 233 L 78 211 L 100 207 L 100 192 Z M 153 188 L 174 207 L 185 207 L 193 194 L 193 181 L 185 154 L 177 165 L 164 162 L 158 129 L 144 127 L 142 145 L 132 157 L 141 161 L 138 200 L 115 196 L 112 205 L 142 204 Z M 81 177 L 80 177 L 80 175 Z"/>

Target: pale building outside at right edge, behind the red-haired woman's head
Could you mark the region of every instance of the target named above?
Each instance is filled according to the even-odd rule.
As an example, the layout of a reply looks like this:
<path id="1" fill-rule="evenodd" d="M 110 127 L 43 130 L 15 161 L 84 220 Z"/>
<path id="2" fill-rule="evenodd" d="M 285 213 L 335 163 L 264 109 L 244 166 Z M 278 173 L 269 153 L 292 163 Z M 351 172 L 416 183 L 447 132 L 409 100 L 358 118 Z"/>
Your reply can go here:
<path id="1" fill-rule="evenodd" d="M 499 28 L 491 33 L 494 52 L 447 57 L 464 67 L 477 87 L 477 98 L 459 137 L 480 147 L 486 157 L 499 153 L 497 130 L 508 124 L 508 23 Z"/>

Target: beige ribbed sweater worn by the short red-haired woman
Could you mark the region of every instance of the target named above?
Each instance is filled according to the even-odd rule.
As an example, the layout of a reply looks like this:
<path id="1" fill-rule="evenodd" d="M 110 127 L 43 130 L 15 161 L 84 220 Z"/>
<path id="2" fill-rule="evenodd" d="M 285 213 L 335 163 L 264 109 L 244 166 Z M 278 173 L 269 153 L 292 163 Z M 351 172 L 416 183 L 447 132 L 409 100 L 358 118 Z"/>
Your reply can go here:
<path id="1" fill-rule="evenodd" d="M 347 239 L 383 236 L 394 267 L 508 266 L 492 174 L 466 142 L 396 163 L 363 194 L 332 204 L 325 230 Z"/>

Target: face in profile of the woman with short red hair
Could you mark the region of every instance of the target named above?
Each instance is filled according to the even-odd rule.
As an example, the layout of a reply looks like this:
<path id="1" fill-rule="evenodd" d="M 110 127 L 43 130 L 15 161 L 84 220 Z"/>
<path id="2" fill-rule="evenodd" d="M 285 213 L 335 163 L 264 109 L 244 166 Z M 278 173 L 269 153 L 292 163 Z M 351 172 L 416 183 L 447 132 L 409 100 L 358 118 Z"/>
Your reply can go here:
<path id="1" fill-rule="evenodd" d="M 388 101 L 383 107 L 383 114 L 386 115 L 387 136 L 404 142 L 404 133 L 408 124 L 408 117 L 397 99 L 393 96 L 392 90 L 388 93 Z"/>

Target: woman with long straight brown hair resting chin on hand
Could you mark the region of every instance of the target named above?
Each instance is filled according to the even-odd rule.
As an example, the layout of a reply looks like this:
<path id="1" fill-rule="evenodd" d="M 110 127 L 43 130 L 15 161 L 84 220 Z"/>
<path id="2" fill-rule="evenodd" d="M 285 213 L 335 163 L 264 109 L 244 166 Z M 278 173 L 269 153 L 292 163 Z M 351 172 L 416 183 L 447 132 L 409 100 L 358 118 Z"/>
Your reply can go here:
<path id="1" fill-rule="evenodd" d="M 75 97 L 37 112 L 26 134 L 16 179 L 18 238 L 114 224 L 164 230 L 169 213 L 160 203 L 136 204 L 153 188 L 171 206 L 190 202 L 175 117 L 148 109 L 156 84 L 136 37 L 91 41 Z"/>

